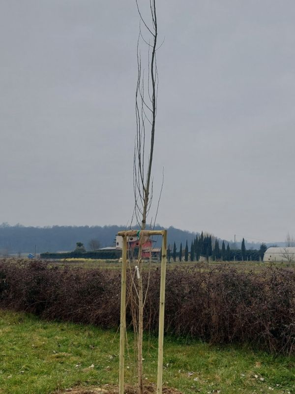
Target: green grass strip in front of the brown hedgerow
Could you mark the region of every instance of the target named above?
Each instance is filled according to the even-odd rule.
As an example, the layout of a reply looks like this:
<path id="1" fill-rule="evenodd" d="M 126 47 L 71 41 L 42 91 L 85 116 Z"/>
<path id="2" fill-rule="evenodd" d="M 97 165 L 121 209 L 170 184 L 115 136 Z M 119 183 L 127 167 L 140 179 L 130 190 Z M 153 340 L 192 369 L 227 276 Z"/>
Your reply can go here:
<path id="1" fill-rule="evenodd" d="M 128 333 L 130 348 L 132 340 Z M 76 385 L 118 384 L 118 349 L 114 330 L 0 311 L 0 393 L 48 394 Z M 126 353 L 125 381 L 136 383 L 132 350 Z M 145 381 L 156 382 L 156 338 L 145 338 L 144 359 Z M 295 393 L 295 357 L 168 337 L 164 366 L 164 384 L 184 394 Z"/>

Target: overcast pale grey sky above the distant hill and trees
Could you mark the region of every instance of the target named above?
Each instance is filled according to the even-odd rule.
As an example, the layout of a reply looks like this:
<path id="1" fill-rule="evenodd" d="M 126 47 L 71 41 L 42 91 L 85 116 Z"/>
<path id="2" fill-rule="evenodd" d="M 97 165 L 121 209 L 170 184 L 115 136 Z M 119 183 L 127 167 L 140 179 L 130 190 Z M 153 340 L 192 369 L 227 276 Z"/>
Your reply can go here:
<path id="1" fill-rule="evenodd" d="M 295 1 L 158 0 L 157 17 L 157 222 L 295 235 Z M 0 223 L 130 220 L 138 28 L 135 0 L 0 0 Z"/>

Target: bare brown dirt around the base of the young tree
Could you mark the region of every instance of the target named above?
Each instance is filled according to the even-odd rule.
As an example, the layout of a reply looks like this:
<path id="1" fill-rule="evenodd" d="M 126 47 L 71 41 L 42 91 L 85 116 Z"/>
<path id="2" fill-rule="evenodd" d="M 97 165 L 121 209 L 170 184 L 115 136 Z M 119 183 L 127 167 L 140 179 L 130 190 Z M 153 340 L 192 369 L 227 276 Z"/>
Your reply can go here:
<path id="1" fill-rule="evenodd" d="M 154 384 L 149 384 L 144 387 L 144 394 L 155 394 L 157 392 L 157 387 Z M 104 385 L 102 387 L 73 387 L 66 389 L 65 391 L 56 393 L 71 393 L 71 394 L 118 394 L 119 386 Z M 173 389 L 171 387 L 163 387 L 163 394 L 182 394 L 180 391 Z M 136 386 L 125 385 L 124 394 L 137 394 Z"/>

